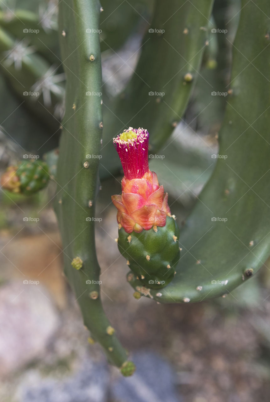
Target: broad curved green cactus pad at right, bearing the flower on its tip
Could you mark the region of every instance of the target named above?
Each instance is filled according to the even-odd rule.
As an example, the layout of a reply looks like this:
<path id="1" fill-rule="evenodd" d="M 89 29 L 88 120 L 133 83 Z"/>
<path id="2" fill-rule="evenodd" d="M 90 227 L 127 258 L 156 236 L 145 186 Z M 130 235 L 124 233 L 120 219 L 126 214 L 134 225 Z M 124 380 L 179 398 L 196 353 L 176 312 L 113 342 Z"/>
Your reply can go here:
<path id="1" fill-rule="evenodd" d="M 181 230 L 161 303 L 201 301 L 252 278 L 270 254 L 270 3 L 242 1 L 216 168 Z M 227 220 L 225 220 L 227 219 Z M 129 276 L 136 289 L 140 281 Z M 136 289 L 137 290 L 137 289 Z"/>

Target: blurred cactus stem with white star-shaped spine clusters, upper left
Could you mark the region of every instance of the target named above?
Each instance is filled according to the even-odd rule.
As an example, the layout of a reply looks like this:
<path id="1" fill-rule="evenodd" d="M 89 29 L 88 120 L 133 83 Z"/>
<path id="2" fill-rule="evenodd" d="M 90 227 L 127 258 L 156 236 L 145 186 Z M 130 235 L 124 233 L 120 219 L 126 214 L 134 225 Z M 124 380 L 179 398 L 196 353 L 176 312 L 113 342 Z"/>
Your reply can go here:
<path id="1" fill-rule="evenodd" d="M 14 39 L 1 27 L 0 54 L 0 70 L 17 96 L 53 132 L 57 131 L 59 121 L 53 115 L 56 106 L 63 100 L 64 74 L 57 74 L 57 68 L 36 53 L 35 47 L 28 45 L 26 40 Z"/>

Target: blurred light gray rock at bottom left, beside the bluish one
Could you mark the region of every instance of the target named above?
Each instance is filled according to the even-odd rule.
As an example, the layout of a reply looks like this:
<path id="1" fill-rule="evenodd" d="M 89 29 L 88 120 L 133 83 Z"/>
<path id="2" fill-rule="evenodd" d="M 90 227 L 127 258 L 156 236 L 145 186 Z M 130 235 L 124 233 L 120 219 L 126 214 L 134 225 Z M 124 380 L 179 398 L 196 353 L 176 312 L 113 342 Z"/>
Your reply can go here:
<path id="1" fill-rule="evenodd" d="M 20 387 L 20 402 L 105 402 L 108 394 L 109 374 L 104 363 L 93 363 L 87 357 L 79 370 L 65 378 L 42 379 L 35 375 L 32 381 Z M 30 380 L 30 381 L 29 381 Z M 32 384 L 29 384 L 31 382 Z"/>

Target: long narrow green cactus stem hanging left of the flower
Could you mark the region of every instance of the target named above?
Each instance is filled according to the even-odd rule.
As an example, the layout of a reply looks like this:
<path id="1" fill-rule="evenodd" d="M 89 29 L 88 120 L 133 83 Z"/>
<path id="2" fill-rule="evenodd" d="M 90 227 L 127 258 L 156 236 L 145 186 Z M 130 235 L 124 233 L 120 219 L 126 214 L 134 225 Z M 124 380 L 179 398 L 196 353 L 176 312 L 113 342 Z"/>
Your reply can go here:
<path id="1" fill-rule="evenodd" d="M 126 350 L 116 333 L 107 332 L 110 322 L 100 298 L 100 268 L 95 252 L 95 198 L 98 158 L 102 138 L 102 86 L 99 47 L 100 4 L 96 0 L 67 0 L 59 4 L 61 57 L 65 60 L 67 91 L 65 117 L 57 164 L 55 210 L 65 249 L 65 274 L 80 305 L 91 337 L 104 348 L 109 361 L 121 367 Z M 62 35 L 65 31 L 65 35 Z M 90 31 L 90 32 L 89 32 Z M 93 56 L 93 57 L 91 57 Z M 73 258 L 83 260 L 81 269 Z M 111 327 L 112 328 L 112 327 Z"/>

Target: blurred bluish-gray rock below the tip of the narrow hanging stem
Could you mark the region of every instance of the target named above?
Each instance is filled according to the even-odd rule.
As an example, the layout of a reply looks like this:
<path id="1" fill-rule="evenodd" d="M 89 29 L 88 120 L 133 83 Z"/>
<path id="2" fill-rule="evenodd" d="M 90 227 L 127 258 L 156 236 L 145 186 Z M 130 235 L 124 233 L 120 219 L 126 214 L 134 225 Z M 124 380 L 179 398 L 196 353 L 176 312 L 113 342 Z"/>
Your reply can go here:
<path id="1" fill-rule="evenodd" d="M 170 365 L 146 351 L 132 356 L 136 372 L 112 384 L 112 398 L 119 402 L 180 402 L 175 388 L 175 373 Z"/>

